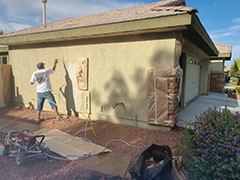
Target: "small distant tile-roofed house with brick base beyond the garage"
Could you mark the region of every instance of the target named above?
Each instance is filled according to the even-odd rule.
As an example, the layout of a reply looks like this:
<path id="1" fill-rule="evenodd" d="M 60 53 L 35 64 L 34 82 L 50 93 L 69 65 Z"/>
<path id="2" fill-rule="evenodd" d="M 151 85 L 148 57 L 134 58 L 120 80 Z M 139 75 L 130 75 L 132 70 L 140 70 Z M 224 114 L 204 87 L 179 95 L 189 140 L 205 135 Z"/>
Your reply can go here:
<path id="1" fill-rule="evenodd" d="M 226 76 L 224 73 L 225 61 L 230 61 L 232 57 L 232 46 L 215 43 L 218 56 L 211 57 L 210 60 L 210 91 L 221 92 L 224 88 Z"/>

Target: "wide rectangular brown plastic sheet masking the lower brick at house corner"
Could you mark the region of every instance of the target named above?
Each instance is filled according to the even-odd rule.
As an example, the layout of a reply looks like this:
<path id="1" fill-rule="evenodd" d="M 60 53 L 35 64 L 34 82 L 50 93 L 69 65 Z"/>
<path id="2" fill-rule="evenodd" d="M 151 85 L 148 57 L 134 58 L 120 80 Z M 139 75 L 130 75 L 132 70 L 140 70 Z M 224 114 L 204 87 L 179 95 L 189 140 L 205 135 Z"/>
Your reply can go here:
<path id="1" fill-rule="evenodd" d="M 182 70 L 179 66 L 175 69 L 150 69 L 148 71 L 149 124 L 162 126 L 173 126 L 175 124 L 174 120 L 168 118 L 168 80 L 172 76 L 181 77 L 181 75 Z M 180 94 L 177 97 L 180 99 Z"/>

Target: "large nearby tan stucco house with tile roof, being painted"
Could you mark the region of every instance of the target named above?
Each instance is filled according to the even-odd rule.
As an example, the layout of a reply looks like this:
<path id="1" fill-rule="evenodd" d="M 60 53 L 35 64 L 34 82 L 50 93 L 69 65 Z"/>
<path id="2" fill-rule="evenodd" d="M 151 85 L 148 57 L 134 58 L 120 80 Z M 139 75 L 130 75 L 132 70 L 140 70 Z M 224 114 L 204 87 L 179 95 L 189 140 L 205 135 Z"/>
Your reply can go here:
<path id="1" fill-rule="evenodd" d="M 36 108 L 29 80 L 40 61 L 51 67 L 62 112 L 159 129 L 208 93 L 210 57 L 218 50 L 185 0 L 166 0 L 73 17 L 4 34 L 14 104 Z M 45 110 L 50 110 L 45 105 Z"/>

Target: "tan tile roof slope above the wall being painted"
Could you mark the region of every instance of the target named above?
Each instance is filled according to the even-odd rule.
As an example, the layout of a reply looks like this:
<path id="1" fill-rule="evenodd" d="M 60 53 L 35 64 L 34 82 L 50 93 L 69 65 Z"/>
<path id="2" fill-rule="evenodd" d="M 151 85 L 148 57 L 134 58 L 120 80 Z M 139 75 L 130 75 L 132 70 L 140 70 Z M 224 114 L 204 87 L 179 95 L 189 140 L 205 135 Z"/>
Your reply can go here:
<path id="1" fill-rule="evenodd" d="M 136 21 L 148 18 L 198 12 L 197 9 L 188 8 L 185 7 L 185 5 L 186 5 L 185 0 L 160 1 L 156 3 L 145 4 L 136 7 L 119 9 L 104 13 L 73 17 L 49 23 L 46 25 L 45 28 L 42 25 L 36 26 L 9 34 L 4 34 L 1 37 L 10 37 L 24 34 L 34 34 L 41 32 L 66 30 L 72 28 L 81 28 L 105 24 L 114 24 L 120 22 Z"/>

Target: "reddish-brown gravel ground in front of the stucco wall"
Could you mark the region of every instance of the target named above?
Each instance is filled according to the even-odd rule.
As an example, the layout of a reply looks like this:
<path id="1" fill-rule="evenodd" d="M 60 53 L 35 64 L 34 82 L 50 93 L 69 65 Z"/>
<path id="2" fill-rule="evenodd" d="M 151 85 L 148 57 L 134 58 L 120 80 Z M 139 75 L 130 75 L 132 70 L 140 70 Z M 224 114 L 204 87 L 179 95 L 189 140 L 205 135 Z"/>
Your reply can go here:
<path id="1" fill-rule="evenodd" d="M 35 123 L 36 110 L 25 109 L 21 107 L 0 108 L 0 117 L 16 119 L 20 121 Z M 43 112 L 42 117 L 45 121 L 42 126 L 51 129 L 59 129 L 74 136 L 84 136 L 85 120 L 70 116 L 68 120 L 56 121 L 51 112 Z M 168 145 L 173 155 L 181 155 L 179 151 L 179 139 L 184 129 L 175 128 L 169 132 L 140 129 L 133 126 L 117 125 L 105 121 L 94 121 L 94 129 L 97 137 L 92 133 L 90 127 L 87 128 L 87 138 L 92 142 L 105 146 L 111 139 L 122 139 L 133 145 Z M 5 134 L 0 133 L 0 142 L 3 142 Z M 131 148 L 126 144 L 113 142 L 109 144 L 109 149 L 116 152 L 122 152 L 135 155 L 140 149 Z M 106 175 L 93 172 L 80 165 L 78 161 L 55 161 L 47 162 L 41 157 L 28 159 L 24 166 L 17 167 L 15 159 L 9 157 L 0 157 L 0 180 L 80 180 L 89 178 L 93 173 L 103 177 Z"/>

